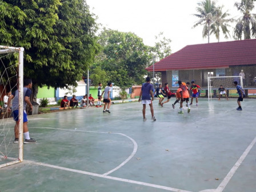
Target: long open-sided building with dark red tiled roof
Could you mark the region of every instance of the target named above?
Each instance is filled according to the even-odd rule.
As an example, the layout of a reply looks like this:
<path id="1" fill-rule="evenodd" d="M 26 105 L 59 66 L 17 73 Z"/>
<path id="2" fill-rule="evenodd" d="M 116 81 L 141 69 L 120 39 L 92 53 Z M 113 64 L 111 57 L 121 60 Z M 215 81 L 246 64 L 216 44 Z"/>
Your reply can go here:
<path id="1" fill-rule="evenodd" d="M 153 71 L 153 65 L 146 70 Z M 155 63 L 154 70 L 162 73 L 162 83 L 194 80 L 205 87 L 209 75 L 235 76 L 243 70 L 245 85 L 256 87 L 256 39 L 188 45 Z"/>

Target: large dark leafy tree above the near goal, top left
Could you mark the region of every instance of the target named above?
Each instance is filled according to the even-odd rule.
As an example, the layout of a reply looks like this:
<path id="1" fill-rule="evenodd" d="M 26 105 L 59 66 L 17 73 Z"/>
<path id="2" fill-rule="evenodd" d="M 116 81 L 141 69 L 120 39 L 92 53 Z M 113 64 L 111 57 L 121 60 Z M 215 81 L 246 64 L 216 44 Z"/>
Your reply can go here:
<path id="1" fill-rule="evenodd" d="M 35 87 L 76 86 L 99 52 L 84 0 L 0 0 L 0 10 L 0 44 L 25 47 L 24 74 Z"/>

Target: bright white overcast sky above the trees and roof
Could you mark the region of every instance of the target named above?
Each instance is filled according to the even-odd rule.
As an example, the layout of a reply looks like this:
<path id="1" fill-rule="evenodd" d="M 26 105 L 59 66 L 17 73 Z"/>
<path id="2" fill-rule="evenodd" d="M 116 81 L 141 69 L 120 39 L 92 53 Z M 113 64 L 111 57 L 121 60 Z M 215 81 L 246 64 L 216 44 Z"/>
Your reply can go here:
<path id="1" fill-rule="evenodd" d="M 241 13 L 234 7 L 239 0 L 219 0 L 217 5 L 224 5 L 230 17 L 238 18 Z M 199 0 L 86 0 L 91 13 L 97 15 L 97 22 L 107 29 L 132 32 L 143 39 L 146 45 L 154 46 L 155 36 L 163 32 L 163 36 L 171 39 L 172 53 L 186 45 L 207 43 L 202 38 L 203 26 L 192 26 L 199 19 L 193 14 Z M 254 9 L 253 13 L 256 13 Z M 234 25 L 234 24 L 233 24 Z M 220 42 L 234 41 L 233 29 L 230 27 L 229 39 L 221 34 Z M 217 42 L 211 35 L 210 42 Z"/>

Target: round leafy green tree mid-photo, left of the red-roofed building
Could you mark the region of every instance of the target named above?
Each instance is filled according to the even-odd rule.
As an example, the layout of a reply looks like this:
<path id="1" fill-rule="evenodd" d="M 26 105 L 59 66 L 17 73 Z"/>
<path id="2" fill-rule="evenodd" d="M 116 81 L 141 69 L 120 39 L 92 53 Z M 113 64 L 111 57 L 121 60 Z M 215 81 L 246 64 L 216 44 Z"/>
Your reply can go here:
<path id="1" fill-rule="evenodd" d="M 144 81 L 151 50 L 141 38 L 134 33 L 103 29 L 99 43 L 103 50 L 95 59 L 95 66 L 106 71 L 109 81 L 121 88 Z"/>

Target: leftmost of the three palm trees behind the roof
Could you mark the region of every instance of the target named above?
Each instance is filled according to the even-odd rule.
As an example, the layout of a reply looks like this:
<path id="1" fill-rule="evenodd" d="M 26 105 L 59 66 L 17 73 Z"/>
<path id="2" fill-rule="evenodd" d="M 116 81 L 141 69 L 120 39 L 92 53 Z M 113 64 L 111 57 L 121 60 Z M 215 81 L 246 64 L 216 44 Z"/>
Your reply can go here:
<path id="1" fill-rule="evenodd" d="M 196 8 L 199 14 L 193 14 L 200 19 L 193 26 L 203 25 L 203 38 L 208 37 L 208 43 L 210 43 L 210 26 L 214 23 L 214 15 L 216 11 L 215 1 L 205 0 L 197 3 Z"/>

